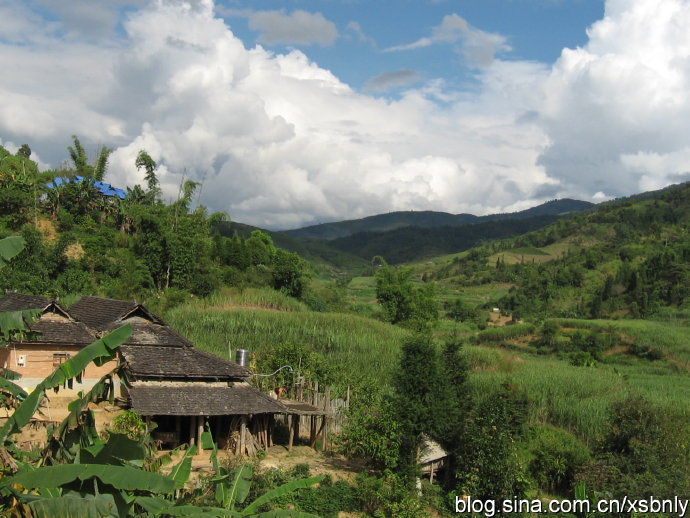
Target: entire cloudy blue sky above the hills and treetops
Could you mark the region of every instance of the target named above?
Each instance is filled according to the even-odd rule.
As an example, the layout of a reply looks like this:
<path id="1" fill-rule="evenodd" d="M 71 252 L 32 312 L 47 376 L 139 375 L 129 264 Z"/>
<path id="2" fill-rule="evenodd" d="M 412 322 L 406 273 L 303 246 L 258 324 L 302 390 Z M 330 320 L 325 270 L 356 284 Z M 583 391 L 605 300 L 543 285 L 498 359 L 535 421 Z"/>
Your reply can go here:
<path id="1" fill-rule="evenodd" d="M 0 0 L 0 144 L 287 229 L 690 180 L 690 0 Z"/>

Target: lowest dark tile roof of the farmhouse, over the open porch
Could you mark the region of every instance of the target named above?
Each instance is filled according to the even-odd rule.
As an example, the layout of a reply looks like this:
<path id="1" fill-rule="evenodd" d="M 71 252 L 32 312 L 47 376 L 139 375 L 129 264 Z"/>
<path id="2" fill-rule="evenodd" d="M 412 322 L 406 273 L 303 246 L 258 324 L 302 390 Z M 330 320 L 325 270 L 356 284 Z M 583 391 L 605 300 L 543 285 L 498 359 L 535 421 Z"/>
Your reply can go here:
<path id="1" fill-rule="evenodd" d="M 284 414 L 286 408 L 246 383 L 233 386 L 204 383 L 149 385 L 129 389 L 132 408 L 141 415 Z"/>

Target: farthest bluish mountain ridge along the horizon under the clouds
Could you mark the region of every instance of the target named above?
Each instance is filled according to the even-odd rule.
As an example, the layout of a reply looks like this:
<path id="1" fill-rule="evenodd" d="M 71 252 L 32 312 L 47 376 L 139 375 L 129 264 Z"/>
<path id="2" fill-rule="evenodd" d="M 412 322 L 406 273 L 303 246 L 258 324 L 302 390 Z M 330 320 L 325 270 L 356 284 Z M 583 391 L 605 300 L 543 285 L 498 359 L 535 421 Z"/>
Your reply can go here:
<path id="1" fill-rule="evenodd" d="M 536 207 L 506 214 L 475 216 L 473 214 L 450 214 L 435 211 L 401 211 L 377 214 L 366 218 L 320 223 L 281 233 L 303 241 L 333 241 L 360 232 L 389 232 L 404 227 L 437 228 L 458 227 L 497 220 L 526 219 L 535 216 L 558 216 L 569 212 L 580 212 L 594 204 L 565 198 L 551 200 Z"/>

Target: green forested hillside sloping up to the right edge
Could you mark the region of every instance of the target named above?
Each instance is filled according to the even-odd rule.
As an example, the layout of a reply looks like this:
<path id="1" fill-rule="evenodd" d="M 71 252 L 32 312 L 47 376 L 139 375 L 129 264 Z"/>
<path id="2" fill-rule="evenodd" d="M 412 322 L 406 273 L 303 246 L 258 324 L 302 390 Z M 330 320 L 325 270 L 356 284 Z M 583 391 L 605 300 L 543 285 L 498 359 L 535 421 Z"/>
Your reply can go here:
<path id="1" fill-rule="evenodd" d="M 690 281 L 690 185 L 620 200 L 458 256 L 434 273 L 511 285 L 518 316 L 646 317 L 682 307 Z"/>

